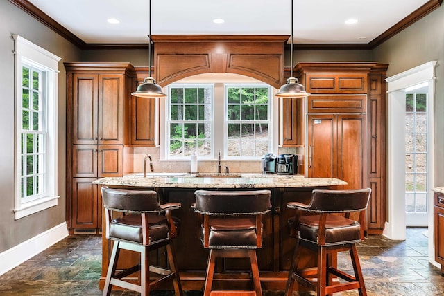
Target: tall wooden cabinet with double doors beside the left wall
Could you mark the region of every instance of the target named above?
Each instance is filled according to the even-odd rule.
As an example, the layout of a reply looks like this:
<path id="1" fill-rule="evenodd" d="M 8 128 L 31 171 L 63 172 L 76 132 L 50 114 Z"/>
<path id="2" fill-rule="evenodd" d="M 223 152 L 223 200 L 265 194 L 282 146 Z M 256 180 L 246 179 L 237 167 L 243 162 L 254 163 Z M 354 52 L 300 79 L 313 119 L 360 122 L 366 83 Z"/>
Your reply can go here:
<path id="1" fill-rule="evenodd" d="M 67 223 L 70 232 L 101 231 L 96 178 L 123 176 L 129 141 L 128 63 L 65 63 L 67 69 Z"/>

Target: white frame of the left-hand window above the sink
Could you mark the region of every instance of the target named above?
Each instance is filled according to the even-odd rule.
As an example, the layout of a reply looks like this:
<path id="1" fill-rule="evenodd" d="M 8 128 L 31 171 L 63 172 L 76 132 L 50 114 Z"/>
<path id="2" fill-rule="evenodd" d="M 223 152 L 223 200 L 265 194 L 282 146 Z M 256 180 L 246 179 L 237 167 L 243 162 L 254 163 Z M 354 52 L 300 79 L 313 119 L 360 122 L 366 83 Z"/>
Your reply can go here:
<path id="1" fill-rule="evenodd" d="M 171 126 L 171 89 L 177 89 L 177 88 L 202 88 L 202 87 L 210 87 L 212 89 L 212 103 L 211 103 L 211 114 L 212 114 L 212 121 L 211 121 L 211 129 L 212 129 L 212 134 L 214 135 L 214 84 L 208 84 L 208 83 L 193 83 L 193 84 L 171 84 L 170 86 L 167 87 L 167 103 L 166 103 L 166 124 L 165 124 L 165 129 L 166 129 L 166 137 L 164 140 L 165 143 L 165 150 L 164 150 L 164 155 L 166 159 L 169 160 L 188 160 L 189 156 L 171 156 L 169 154 L 170 151 L 170 142 L 169 139 L 171 138 L 171 130 L 170 130 L 170 126 Z M 184 122 L 185 123 L 185 122 Z M 212 138 L 210 139 L 210 146 L 211 146 L 211 151 L 212 153 L 210 155 L 207 156 L 199 156 L 200 159 L 208 159 L 208 158 L 214 158 L 214 136 L 212 136 Z"/>

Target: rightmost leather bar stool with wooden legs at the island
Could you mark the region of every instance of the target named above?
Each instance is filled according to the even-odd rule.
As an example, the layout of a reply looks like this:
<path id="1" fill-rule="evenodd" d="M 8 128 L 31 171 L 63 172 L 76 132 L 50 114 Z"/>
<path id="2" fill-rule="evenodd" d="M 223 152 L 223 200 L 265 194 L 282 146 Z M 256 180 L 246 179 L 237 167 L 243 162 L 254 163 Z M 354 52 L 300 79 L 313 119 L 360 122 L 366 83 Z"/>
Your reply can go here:
<path id="1" fill-rule="evenodd" d="M 313 190 L 309 205 L 287 203 L 287 207 L 296 210 L 296 216 L 289 219 L 289 228 L 296 230 L 291 231 L 296 237 L 296 246 L 287 281 L 287 296 L 293 292 L 295 281 L 314 287 L 317 295 L 352 289 L 358 289 L 361 296 L 367 295 L 355 243 L 364 240 L 365 210 L 370 193 L 370 188 Z M 358 221 L 350 219 L 351 212 L 359 213 Z M 318 253 L 316 267 L 298 266 L 303 248 Z M 343 251 L 350 252 L 354 275 L 336 266 L 337 253 Z M 334 280 L 334 276 L 343 281 Z"/>

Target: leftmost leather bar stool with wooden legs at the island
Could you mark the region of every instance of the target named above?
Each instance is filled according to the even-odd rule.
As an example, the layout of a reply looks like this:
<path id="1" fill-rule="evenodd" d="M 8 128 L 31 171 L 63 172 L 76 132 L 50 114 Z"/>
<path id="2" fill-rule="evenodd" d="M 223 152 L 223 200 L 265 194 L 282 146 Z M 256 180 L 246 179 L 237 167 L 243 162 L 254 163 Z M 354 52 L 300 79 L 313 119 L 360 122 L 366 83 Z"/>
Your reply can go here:
<path id="1" fill-rule="evenodd" d="M 106 238 L 114 241 L 110 265 L 106 274 L 103 295 L 109 296 L 112 286 L 134 290 L 148 296 L 162 281 L 173 280 L 175 295 L 182 295 L 179 273 L 173 252 L 172 239 L 178 237 L 180 220 L 171 216 L 171 210 L 180 208 L 180 203 L 160 205 L 153 190 L 126 190 L 102 187 L 105 207 Z M 117 216 L 116 212 L 121 212 Z M 114 217 L 113 218 L 113 214 Z M 169 269 L 153 266 L 149 252 L 165 246 Z M 140 262 L 116 274 L 121 249 L 140 253 Z M 122 278 L 140 271 L 139 283 Z M 150 272 L 160 277 L 150 280 Z"/>

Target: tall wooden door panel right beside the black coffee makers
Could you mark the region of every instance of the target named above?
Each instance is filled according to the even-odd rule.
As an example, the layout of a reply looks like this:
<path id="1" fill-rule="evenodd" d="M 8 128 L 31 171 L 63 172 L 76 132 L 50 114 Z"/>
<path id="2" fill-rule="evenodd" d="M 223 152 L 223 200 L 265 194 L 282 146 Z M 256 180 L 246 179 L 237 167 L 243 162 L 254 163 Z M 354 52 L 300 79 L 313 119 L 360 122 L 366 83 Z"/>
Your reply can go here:
<path id="1" fill-rule="evenodd" d="M 308 116 L 308 176 L 336 176 L 336 116 Z"/>

